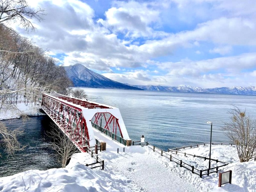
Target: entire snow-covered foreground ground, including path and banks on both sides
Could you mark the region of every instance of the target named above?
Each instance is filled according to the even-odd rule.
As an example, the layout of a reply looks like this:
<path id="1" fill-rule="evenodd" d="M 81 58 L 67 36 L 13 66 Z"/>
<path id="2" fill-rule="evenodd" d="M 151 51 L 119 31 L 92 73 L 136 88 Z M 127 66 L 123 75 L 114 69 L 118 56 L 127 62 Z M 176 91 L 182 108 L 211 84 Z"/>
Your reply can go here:
<path id="1" fill-rule="evenodd" d="M 212 146 L 212 158 L 232 162 L 224 171 L 232 170 L 232 184 L 218 187 L 217 173 L 210 176 L 192 174 L 169 159 L 153 152 L 147 146 L 130 146 L 113 142 L 111 138 L 94 130 L 98 140 L 107 143 L 107 150 L 99 152 L 105 160 L 104 170 L 90 169 L 85 164 L 95 162 L 88 153 L 75 154 L 66 168 L 46 171 L 30 170 L 0 178 L 0 192 L 9 191 L 110 191 L 110 192 L 168 192 L 168 191 L 256 191 L 256 163 L 238 163 L 234 146 Z M 117 148 L 119 153 L 117 154 Z M 209 146 L 185 149 L 186 153 L 207 156 Z M 193 156 L 177 156 L 197 166 L 207 167 L 208 161 Z M 212 162 L 214 164 L 214 162 Z M 214 165 L 213 165 L 214 166 Z"/>

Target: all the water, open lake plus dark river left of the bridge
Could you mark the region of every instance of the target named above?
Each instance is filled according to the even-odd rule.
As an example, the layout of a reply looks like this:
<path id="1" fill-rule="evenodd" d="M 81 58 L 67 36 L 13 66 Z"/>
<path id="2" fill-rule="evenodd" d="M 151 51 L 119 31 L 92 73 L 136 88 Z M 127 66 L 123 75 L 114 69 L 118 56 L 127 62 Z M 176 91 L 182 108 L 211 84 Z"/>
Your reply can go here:
<path id="1" fill-rule="evenodd" d="M 229 142 L 220 127 L 229 119 L 227 111 L 235 105 L 256 117 L 255 96 L 201 93 L 148 92 L 134 90 L 84 88 L 88 100 L 119 108 L 128 134 L 132 140 L 146 141 L 158 148 L 181 147 L 210 142 L 212 121 L 212 142 Z M 9 127 L 23 126 L 25 135 L 20 138 L 28 145 L 16 156 L 0 158 L 0 177 L 14 173 L 60 167 L 51 154 L 49 138 L 50 118 L 31 117 L 22 123 L 21 119 L 4 121 Z M 0 151 L 2 153 L 2 151 Z"/>

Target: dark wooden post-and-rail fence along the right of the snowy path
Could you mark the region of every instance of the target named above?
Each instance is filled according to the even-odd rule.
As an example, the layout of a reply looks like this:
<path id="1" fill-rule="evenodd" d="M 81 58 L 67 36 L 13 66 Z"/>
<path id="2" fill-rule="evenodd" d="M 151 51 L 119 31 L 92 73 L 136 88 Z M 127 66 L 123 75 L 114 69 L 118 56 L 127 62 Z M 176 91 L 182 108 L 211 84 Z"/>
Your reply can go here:
<path id="1" fill-rule="evenodd" d="M 164 156 L 164 157 L 170 159 L 171 162 L 174 162 L 174 163 L 180 165 L 180 167 L 184 167 L 185 169 L 191 171 L 192 173 L 194 173 L 194 174 L 196 174 L 196 175 L 199 175 L 200 178 L 202 178 L 203 175 L 209 175 L 209 174 L 211 174 L 211 173 L 218 173 L 220 167 L 223 167 L 223 166 L 226 166 L 226 165 L 229 164 L 229 163 L 227 163 L 227 162 L 223 162 L 223 161 L 219 161 L 218 159 L 212 159 L 212 158 L 211 158 L 212 161 L 216 161 L 217 163 L 218 163 L 218 162 L 223 163 L 223 165 L 216 166 L 216 167 L 212 167 L 212 168 L 210 168 L 210 169 L 199 170 L 199 169 L 195 168 L 194 165 L 190 165 L 190 164 L 188 164 L 188 163 L 185 163 L 185 162 L 183 162 L 181 159 L 178 159 L 178 158 L 172 156 L 172 154 L 173 154 L 174 152 L 176 153 L 176 155 L 177 155 L 177 153 L 182 153 L 182 152 L 179 152 L 178 150 L 168 149 L 168 152 L 171 153 L 171 154 L 168 154 L 167 152 L 163 151 L 162 149 L 157 148 L 156 146 L 151 145 L 151 144 L 148 143 L 148 142 L 145 142 L 145 143 L 146 143 L 146 146 L 148 146 L 148 148 L 150 148 L 150 149 L 153 150 L 153 152 L 156 152 L 156 153 L 160 154 L 161 156 Z M 205 144 L 207 144 L 207 143 L 197 144 L 197 145 L 195 145 L 195 146 L 198 147 L 199 145 L 205 145 Z M 209 144 L 210 144 L 210 143 L 209 143 Z M 215 143 L 215 144 L 216 144 L 216 143 Z M 220 144 L 222 145 L 222 144 L 227 144 L 227 143 L 220 143 Z M 140 141 L 132 141 L 132 145 L 140 145 Z M 232 144 L 231 144 L 231 145 L 232 145 Z M 193 145 L 190 145 L 190 146 L 193 146 Z M 190 146 L 181 147 L 181 148 L 174 148 L 174 149 L 184 149 L 184 148 L 188 148 L 188 147 L 190 147 Z M 192 147 L 191 147 L 191 148 L 192 148 Z M 170 151 L 171 151 L 171 152 L 170 152 Z M 174 152 L 173 152 L 173 151 L 174 151 Z M 194 157 L 204 158 L 205 160 L 206 160 L 206 159 L 209 159 L 209 158 L 206 158 L 206 157 L 191 155 L 191 154 L 187 154 L 187 153 L 182 153 L 182 154 L 184 154 L 185 156 L 186 156 L 186 155 L 190 155 L 190 156 L 194 156 Z M 212 170 L 214 170 L 214 171 L 212 171 Z M 206 172 L 206 173 L 205 173 L 205 172 Z"/>

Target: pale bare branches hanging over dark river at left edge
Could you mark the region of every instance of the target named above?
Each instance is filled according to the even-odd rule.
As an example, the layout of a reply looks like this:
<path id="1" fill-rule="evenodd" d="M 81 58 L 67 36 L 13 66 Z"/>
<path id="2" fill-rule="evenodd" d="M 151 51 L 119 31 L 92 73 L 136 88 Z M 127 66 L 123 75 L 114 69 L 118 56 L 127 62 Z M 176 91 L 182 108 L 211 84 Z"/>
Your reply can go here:
<path id="1" fill-rule="evenodd" d="M 25 146 L 21 146 L 18 136 L 23 134 L 23 130 L 9 130 L 4 123 L 0 122 L 0 144 L 5 148 L 7 154 L 14 154 L 16 151 L 22 150 Z M 0 154 L 1 156 L 1 154 Z"/>

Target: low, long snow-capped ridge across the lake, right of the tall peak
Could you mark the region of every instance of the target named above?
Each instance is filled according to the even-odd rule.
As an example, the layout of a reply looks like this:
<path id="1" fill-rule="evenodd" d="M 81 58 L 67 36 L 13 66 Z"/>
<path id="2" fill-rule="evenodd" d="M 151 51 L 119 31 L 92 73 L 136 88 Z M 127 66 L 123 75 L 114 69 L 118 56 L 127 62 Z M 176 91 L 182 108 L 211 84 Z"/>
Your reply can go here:
<path id="1" fill-rule="evenodd" d="M 160 85 L 131 85 L 139 87 L 147 91 L 167 91 L 167 92 L 202 92 L 202 93 L 224 93 L 224 94 L 241 94 L 241 95 L 256 95 L 256 87 L 219 87 L 204 89 L 201 87 L 192 87 L 188 85 L 179 85 L 178 87 L 168 87 Z"/>

